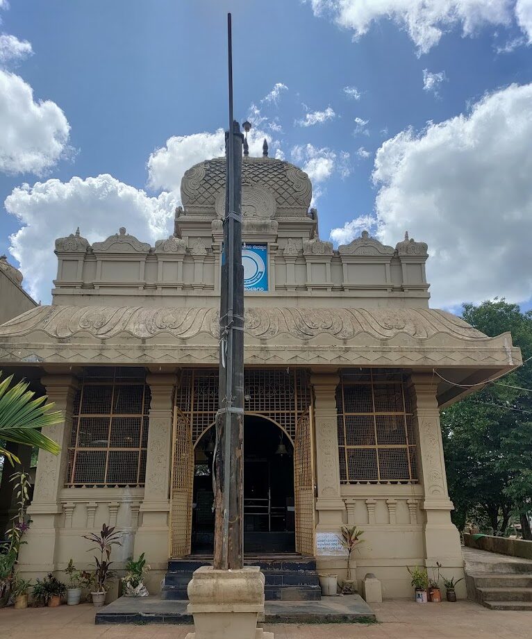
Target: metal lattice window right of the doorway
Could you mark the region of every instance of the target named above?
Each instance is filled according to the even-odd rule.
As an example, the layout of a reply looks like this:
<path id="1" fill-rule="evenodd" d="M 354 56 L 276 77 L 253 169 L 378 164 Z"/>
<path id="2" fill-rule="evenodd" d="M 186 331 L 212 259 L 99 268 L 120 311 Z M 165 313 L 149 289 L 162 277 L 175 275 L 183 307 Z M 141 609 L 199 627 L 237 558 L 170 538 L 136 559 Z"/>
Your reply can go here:
<path id="1" fill-rule="evenodd" d="M 415 483 L 416 445 L 405 376 L 345 371 L 336 390 L 342 483 Z"/>

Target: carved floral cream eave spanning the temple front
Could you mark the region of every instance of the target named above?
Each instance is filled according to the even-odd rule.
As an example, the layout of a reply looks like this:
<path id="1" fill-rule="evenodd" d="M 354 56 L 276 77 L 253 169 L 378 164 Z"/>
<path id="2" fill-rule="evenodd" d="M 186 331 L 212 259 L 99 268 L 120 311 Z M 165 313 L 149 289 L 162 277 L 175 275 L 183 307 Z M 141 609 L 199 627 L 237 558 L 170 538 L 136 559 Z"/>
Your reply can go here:
<path id="1" fill-rule="evenodd" d="M 513 368 L 509 333 L 488 338 L 442 310 L 247 308 L 247 363 Z M 0 326 L 0 361 L 216 363 L 216 308 L 38 306 Z"/>

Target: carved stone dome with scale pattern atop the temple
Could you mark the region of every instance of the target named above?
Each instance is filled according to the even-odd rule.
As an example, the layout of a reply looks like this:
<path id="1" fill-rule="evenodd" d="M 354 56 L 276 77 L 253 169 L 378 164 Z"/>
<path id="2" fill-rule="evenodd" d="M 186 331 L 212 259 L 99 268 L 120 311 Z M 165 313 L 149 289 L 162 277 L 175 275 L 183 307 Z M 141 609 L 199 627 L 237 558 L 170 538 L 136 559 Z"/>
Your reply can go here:
<path id="1" fill-rule="evenodd" d="M 226 158 L 194 165 L 181 180 L 185 213 L 223 217 Z M 242 211 L 247 217 L 306 216 L 312 184 L 298 167 L 276 158 L 242 158 Z"/>

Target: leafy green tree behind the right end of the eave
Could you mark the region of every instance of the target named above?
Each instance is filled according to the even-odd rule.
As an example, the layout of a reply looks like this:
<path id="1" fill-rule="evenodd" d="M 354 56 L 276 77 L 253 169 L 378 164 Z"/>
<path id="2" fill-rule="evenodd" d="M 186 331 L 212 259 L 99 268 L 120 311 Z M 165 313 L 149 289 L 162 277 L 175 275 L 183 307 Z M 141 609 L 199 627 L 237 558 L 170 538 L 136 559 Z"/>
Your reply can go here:
<path id="1" fill-rule="evenodd" d="M 532 313 L 504 299 L 464 304 L 463 318 L 486 335 L 510 331 L 523 360 L 532 356 Z M 479 511 L 494 534 L 504 534 L 512 513 L 531 539 L 532 361 L 442 413 L 454 522 L 463 528 Z M 510 388 L 513 387 L 513 388 Z"/>

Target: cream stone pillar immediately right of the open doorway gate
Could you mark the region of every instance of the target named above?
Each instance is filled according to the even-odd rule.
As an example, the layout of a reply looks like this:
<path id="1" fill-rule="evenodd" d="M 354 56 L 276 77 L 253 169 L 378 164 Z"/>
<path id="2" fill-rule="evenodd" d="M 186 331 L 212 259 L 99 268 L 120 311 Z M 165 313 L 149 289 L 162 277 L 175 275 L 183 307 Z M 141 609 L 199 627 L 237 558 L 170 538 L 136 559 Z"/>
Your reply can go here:
<path id="1" fill-rule="evenodd" d="M 318 531 L 336 532 L 342 525 L 345 504 L 340 497 L 336 387 L 338 374 L 313 374 L 314 428 L 316 440 L 316 478 Z"/>

